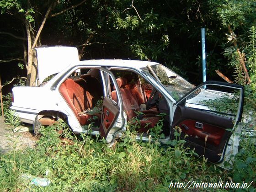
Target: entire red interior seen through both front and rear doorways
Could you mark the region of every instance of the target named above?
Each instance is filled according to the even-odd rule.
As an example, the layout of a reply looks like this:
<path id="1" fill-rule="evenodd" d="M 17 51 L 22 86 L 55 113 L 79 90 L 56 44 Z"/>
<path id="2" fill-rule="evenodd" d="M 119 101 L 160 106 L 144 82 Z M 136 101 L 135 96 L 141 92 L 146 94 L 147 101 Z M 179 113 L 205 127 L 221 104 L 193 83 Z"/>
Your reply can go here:
<path id="1" fill-rule="evenodd" d="M 117 69 L 111 71 L 117 80 L 128 122 L 136 127 L 138 134 L 147 134 L 149 129 L 154 128 L 163 118 L 162 133 L 166 137 L 169 136 L 169 107 L 164 97 L 134 72 Z M 111 80 L 110 84 L 111 99 L 117 103 L 116 87 Z M 95 107 L 99 107 L 97 105 L 104 95 L 99 69 L 81 69 L 80 73 L 73 73 L 60 85 L 59 92 L 75 113 L 81 126 L 86 127 L 93 123 L 93 128 L 99 129 L 102 109 L 96 113 L 94 110 Z M 159 116 L 161 112 L 165 113 L 165 117 Z M 104 120 L 106 119 L 103 119 L 103 122 Z M 108 122 L 112 122 L 112 119 L 107 119 L 106 123 Z"/>

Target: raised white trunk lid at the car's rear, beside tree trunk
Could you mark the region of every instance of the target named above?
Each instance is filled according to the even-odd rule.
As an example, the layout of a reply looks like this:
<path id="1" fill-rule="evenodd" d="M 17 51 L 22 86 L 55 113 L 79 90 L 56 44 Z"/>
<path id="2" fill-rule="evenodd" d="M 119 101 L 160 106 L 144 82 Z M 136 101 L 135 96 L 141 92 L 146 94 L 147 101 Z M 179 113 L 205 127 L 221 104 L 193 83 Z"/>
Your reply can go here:
<path id="1" fill-rule="evenodd" d="M 74 47 L 38 47 L 35 50 L 38 84 L 48 76 L 59 73 L 69 64 L 79 61 L 78 50 Z"/>

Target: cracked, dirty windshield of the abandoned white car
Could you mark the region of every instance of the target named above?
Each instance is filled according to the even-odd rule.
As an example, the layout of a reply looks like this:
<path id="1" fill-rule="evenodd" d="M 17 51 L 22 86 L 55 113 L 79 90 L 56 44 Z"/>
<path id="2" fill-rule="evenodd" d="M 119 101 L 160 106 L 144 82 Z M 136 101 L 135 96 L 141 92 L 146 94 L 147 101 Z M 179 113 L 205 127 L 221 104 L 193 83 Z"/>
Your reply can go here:
<path id="1" fill-rule="evenodd" d="M 171 69 L 168 69 L 161 64 L 150 65 L 141 69 L 159 81 L 176 101 L 181 99 L 181 97 L 191 91 L 194 87 L 187 82 L 187 80 L 184 80 Z"/>

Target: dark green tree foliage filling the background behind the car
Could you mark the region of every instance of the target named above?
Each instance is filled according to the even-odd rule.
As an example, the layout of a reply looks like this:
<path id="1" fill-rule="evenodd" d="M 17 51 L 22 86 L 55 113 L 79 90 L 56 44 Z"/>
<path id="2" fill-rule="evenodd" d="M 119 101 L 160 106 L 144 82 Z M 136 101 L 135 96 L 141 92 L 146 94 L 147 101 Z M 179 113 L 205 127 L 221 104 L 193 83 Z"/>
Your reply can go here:
<path id="1" fill-rule="evenodd" d="M 2 18 L 7 21 L 3 28 L 19 37 L 26 29 L 16 18 L 24 18 L 30 22 L 31 29 L 37 31 L 50 3 L 0 0 Z M 80 1 L 56 1 L 51 14 L 77 3 Z M 157 60 L 198 84 L 202 66 L 200 28 L 205 27 L 208 80 L 216 79 L 216 69 L 227 71 L 225 75 L 232 79 L 232 73 L 235 71 L 240 75 L 241 68 L 237 65 L 235 48 L 230 45 L 233 41 L 227 43 L 225 33 L 230 26 L 237 35 L 234 37 L 238 47 L 245 53 L 250 42 L 248 32 L 255 26 L 255 7 L 254 0 L 206 0 L 203 3 L 194 0 L 160 0 L 157 3 L 138 0 L 133 6 L 130 0 L 88 0 L 63 14 L 49 16 L 40 39 L 47 45 L 77 46 L 82 59 Z M 31 35 L 34 36 L 33 32 Z M 3 59 L 24 57 L 21 40 L 3 34 L 0 38 L 6 42 L 0 48 L 5 53 Z M 233 57 L 236 62 L 224 58 L 224 50 L 225 56 Z M 243 74 L 237 78 L 243 83 Z"/>

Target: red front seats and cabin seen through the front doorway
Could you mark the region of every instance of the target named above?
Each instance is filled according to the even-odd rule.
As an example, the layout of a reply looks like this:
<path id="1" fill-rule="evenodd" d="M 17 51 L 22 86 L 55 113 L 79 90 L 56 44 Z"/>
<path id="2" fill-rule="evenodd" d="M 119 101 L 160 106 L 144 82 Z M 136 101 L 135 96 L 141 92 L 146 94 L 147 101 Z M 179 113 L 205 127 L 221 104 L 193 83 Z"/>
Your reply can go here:
<path id="1" fill-rule="evenodd" d="M 112 70 L 112 72 L 117 78 L 117 84 L 123 99 L 123 108 L 127 114 L 128 121 L 130 124 L 135 125 L 136 131 L 140 134 L 154 129 L 162 118 L 159 114 L 165 113 L 162 133 L 165 136 L 169 136 L 169 108 L 160 93 L 155 91 L 152 85 L 134 72 L 117 69 Z M 115 87 L 113 87 L 112 99 L 114 101 L 117 100 Z"/>

